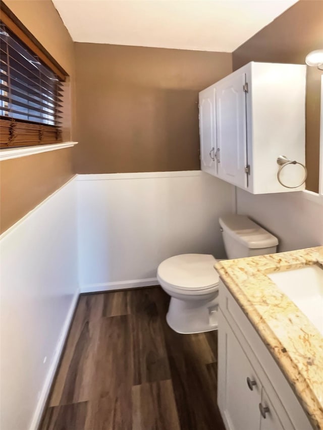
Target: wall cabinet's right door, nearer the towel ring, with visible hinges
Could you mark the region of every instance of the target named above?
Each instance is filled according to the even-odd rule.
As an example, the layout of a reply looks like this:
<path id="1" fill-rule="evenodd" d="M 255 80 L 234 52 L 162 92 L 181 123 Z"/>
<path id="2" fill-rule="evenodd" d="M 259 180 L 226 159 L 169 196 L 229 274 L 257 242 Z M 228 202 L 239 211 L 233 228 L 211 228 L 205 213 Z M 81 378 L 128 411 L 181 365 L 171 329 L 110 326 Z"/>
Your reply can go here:
<path id="1" fill-rule="evenodd" d="M 235 74 L 216 85 L 218 176 L 247 187 L 246 74 Z"/>

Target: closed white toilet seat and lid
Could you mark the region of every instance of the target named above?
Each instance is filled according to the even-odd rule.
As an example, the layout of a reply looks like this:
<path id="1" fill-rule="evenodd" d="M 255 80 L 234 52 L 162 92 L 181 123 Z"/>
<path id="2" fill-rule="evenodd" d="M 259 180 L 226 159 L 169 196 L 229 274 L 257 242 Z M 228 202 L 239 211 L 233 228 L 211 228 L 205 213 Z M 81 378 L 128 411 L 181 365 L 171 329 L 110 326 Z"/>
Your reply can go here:
<path id="1" fill-rule="evenodd" d="M 217 260 L 210 254 L 181 254 L 159 264 L 157 279 L 170 292 L 208 294 L 218 289 Z"/>

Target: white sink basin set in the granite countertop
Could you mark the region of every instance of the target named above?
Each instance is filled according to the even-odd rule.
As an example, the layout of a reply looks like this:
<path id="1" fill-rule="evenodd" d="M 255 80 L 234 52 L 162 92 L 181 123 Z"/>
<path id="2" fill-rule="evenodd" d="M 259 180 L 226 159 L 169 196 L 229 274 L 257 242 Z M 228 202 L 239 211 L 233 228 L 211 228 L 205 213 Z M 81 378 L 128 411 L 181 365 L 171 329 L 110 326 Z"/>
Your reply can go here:
<path id="1" fill-rule="evenodd" d="M 323 269 L 312 265 L 267 276 L 323 335 Z"/>

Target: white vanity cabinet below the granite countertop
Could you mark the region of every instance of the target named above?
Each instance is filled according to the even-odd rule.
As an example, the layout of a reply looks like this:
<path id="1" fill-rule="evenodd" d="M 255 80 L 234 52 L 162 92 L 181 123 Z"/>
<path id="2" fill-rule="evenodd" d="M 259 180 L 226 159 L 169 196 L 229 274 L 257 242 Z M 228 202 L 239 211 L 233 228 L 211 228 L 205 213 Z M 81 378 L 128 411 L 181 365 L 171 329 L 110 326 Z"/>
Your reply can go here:
<path id="1" fill-rule="evenodd" d="M 220 281 L 218 405 L 227 430 L 310 430 L 282 371 Z"/>

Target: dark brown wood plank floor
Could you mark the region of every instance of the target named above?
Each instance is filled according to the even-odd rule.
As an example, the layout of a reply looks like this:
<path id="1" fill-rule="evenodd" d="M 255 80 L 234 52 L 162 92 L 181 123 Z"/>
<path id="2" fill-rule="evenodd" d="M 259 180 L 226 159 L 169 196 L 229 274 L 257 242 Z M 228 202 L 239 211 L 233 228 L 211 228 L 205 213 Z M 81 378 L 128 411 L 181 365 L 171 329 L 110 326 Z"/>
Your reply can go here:
<path id="1" fill-rule="evenodd" d="M 179 335 L 160 287 L 81 296 L 40 430 L 224 430 L 217 332 Z"/>

